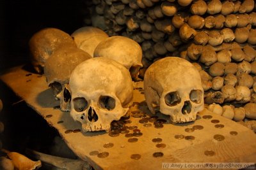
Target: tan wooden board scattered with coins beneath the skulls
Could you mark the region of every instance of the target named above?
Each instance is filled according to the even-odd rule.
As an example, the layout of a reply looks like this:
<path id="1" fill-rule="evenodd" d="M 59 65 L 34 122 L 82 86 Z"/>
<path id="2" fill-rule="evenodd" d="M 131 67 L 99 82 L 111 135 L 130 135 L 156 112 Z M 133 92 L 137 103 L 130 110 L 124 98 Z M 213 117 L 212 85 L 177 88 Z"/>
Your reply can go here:
<path id="1" fill-rule="evenodd" d="M 141 130 L 143 136 L 136 137 L 138 141 L 129 143 L 124 134 L 111 137 L 107 132 L 69 132 L 67 130 L 81 129 L 79 122 L 74 122 L 69 112 L 62 112 L 54 109 L 58 102 L 54 100 L 51 90 L 47 87 L 45 77 L 29 73 L 22 67 L 15 67 L 0 76 L 18 96 L 22 97 L 39 113 L 47 122 L 55 127 L 67 145 L 81 159 L 87 161 L 95 169 L 161 169 L 163 162 L 255 162 L 256 160 L 256 135 L 248 128 L 223 118 L 219 115 L 204 110 L 198 114 L 198 120 L 188 124 L 173 125 L 169 122 L 161 129 L 156 129 L 154 124 L 151 127 L 144 127 L 139 123 L 141 118 L 131 117 L 131 124 Z M 142 82 L 136 83 L 134 89 L 134 101 L 136 104 L 131 111 L 140 110 L 152 116 L 141 90 Z M 130 111 L 130 112 L 131 112 Z M 131 113 L 132 115 L 132 113 Z M 204 115 L 211 115 L 212 118 L 205 119 Z M 168 120 L 168 117 L 157 113 L 159 118 Z M 219 120 L 223 128 L 216 128 L 212 120 Z M 202 125 L 204 129 L 186 132 L 186 128 L 194 125 Z M 236 131 L 237 135 L 231 135 Z M 132 131 L 130 131 L 132 132 Z M 175 135 L 194 136 L 194 140 L 176 139 Z M 223 141 L 214 139 L 214 135 L 220 134 L 225 137 Z M 166 145 L 165 148 L 157 148 L 157 143 L 152 142 L 154 138 L 161 138 Z M 105 143 L 113 143 L 112 148 L 104 148 Z M 214 155 L 205 155 L 205 151 L 212 150 Z M 99 158 L 97 155 L 90 155 L 90 152 L 108 152 L 106 158 Z M 162 152 L 163 157 L 153 157 L 154 152 Z M 131 159 L 132 154 L 140 154 L 138 160 Z"/>

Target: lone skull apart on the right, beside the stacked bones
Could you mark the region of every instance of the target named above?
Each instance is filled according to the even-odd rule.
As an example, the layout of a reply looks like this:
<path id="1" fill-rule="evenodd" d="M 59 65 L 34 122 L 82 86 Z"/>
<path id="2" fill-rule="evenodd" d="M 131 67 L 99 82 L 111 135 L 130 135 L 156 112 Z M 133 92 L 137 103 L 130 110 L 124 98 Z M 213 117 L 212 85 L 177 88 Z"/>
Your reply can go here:
<path id="1" fill-rule="evenodd" d="M 200 74 L 185 59 L 165 57 L 154 62 L 145 73 L 144 89 L 149 110 L 170 115 L 175 123 L 193 121 L 204 109 Z"/>

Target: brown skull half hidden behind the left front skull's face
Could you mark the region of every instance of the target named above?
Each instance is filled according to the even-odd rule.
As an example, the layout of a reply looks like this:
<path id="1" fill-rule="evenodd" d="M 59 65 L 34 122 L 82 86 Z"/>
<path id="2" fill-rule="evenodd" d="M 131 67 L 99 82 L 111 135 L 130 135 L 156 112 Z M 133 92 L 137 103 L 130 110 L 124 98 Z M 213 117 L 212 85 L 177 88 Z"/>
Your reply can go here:
<path id="1" fill-rule="evenodd" d="M 70 46 L 63 46 L 56 50 L 45 62 L 44 73 L 47 84 L 54 92 L 54 96 L 60 99 L 62 111 L 70 110 L 71 94 L 69 90 L 69 78 L 74 68 L 90 59 L 88 53 Z"/>

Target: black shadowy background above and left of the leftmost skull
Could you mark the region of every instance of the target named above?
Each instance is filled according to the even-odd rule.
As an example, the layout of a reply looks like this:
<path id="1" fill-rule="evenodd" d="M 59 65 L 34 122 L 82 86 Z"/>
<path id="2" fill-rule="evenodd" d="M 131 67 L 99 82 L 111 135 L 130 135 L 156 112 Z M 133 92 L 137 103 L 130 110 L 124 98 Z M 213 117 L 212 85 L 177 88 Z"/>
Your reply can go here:
<path id="1" fill-rule="evenodd" d="M 29 62 L 28 41 L 45 27 L 72 34 L 84 26 L 86 0 L 0 0 L 0 71 Z"/>

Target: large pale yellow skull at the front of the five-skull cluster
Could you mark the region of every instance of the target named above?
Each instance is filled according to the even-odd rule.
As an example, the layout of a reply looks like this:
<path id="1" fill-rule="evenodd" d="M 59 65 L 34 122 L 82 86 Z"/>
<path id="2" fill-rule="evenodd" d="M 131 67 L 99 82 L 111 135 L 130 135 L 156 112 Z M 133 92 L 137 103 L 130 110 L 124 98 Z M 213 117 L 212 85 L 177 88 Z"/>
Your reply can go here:
<path id="1" fill-rule="evenodd" d="M 70 76 L 70 114 L 83 131 L 109 131 L 132 104 L 129 71 L 115 60 L 99 57 L 79 64 Z"/>

